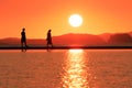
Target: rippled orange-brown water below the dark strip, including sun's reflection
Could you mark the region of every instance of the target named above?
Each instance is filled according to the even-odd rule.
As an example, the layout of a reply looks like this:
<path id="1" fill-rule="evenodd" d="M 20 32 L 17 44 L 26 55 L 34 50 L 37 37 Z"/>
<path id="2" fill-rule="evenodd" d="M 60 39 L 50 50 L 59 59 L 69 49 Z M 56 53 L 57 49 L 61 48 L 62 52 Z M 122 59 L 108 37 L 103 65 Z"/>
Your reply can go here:
<path id="1" fill-rule="evenodd" d="M 132 50 L 0 51 L 0 88 L 132 88 Z"/>

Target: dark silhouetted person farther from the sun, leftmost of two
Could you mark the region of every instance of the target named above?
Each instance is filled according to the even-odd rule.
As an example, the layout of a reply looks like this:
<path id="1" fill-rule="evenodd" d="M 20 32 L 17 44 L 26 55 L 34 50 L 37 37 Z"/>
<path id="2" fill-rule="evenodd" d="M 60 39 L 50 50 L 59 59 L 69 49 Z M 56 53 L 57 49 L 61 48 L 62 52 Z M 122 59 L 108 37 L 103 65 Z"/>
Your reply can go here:
<path id="1" fill-rule="evenodd" d="M 22 32 L 21 32 L 21 46 L 22 46 L 22 52 L 23 52 L 23 50 L 26 51 L 26 35 L 25 35 L 24 28 L 22 29 Z"/>

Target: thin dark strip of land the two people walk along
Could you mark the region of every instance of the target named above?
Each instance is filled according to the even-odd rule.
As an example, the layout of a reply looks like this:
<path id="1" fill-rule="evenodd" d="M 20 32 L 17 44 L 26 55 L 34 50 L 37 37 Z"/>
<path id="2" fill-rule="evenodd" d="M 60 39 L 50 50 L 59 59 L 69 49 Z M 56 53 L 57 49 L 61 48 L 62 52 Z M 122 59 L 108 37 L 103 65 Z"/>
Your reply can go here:
<path id="1" fill-rule="evenodd" d="M 132 50 L 132 46 L 53 46 L 51 50 Z M 0 50 L 22 50 L 21 46 L 6 46 Z M 28 46 L 26 50 L 47 50 L 46 46 Z"/>

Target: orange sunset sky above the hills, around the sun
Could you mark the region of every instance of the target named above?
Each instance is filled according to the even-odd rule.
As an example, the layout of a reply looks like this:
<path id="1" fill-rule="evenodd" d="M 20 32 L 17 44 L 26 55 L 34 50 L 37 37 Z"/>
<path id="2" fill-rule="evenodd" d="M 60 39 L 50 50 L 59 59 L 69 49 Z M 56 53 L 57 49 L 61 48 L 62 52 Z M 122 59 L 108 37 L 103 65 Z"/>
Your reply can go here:
<path id="1" fill-rule="evenodd" d="M 80 14 L 82 25 L 73 28 L 68 18 Z M 132 0 L 0 0 L 0 38 L 45 38 L 67 33 L 132 32 Z"/>

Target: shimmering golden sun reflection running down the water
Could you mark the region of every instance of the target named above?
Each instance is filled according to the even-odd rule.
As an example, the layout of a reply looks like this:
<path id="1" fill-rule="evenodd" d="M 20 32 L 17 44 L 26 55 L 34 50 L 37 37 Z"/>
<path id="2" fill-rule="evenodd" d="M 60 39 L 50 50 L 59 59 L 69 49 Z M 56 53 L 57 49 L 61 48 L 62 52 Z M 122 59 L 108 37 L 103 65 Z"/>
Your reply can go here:
<path id="1" fill-rule="evenodd" d="M 85 57 L 82 50 L 69 50 L 66 61 L 64 88 L 89 88 L 87 85 L 87 72 L 85 70 Z"/>

